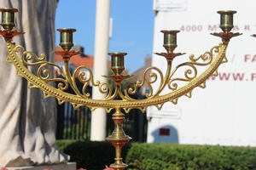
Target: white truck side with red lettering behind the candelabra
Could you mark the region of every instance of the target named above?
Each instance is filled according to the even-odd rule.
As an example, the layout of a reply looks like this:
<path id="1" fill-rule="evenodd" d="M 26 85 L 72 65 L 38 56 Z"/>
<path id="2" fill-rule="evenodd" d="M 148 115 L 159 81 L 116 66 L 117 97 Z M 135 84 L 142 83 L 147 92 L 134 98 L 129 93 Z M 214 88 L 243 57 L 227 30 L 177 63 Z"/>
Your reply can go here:
<path id="1" fill-rule="evenodd" d="M 255 0 L 154 0 L 154 53 L 166 52 L 161 30 L 180 30 L 173 67 L 200 55 L 221 42 L 218 10 L 236 10 L 233 37 L 227 49 L 228 63 L 207 88 L 195 88 L 192 98 L 177 105 L 166 103 L 161 111 L 148 107 L 148 143 L 220 144 L 256 146 L 256 1 Z M 165 72 L 166 59 L 153 54 L 152 65 Z"/>

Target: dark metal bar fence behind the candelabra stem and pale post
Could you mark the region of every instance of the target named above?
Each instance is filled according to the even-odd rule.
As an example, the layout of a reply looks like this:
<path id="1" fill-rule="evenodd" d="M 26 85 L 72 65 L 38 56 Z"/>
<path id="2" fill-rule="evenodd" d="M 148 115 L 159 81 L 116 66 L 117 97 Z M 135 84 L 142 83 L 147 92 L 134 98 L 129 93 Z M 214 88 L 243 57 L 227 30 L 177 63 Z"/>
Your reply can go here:
<path id="1" fill-rule="evenodd" d="M 113 132 L 113 111 L 107 114 L 107 136 Z M 64 103 L 57 105 L 56 139 L 90 140 L 91 111 L 86 106 L 73 109 L 73 105 Z M 133 142 L 146 142 L 148 122 L 146 113 L 132 109 L 125 114 L 123 129 Z M 107 137 L 106 136 L 106 137 Z"/>

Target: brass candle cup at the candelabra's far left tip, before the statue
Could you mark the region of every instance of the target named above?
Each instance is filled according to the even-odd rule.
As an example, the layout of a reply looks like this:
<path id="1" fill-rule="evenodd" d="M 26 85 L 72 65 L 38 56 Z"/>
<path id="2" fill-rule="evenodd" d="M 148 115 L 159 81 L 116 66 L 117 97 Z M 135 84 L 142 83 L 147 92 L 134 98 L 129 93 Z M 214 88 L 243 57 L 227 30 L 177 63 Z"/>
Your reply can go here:
<path id="1" fill-rule="evenodd" d="M 2 23 L 5 31 L 11 31 L 15 27 L 15 13 L 19 10 L 17 8 L 0 8 L 2 12 Z"/>

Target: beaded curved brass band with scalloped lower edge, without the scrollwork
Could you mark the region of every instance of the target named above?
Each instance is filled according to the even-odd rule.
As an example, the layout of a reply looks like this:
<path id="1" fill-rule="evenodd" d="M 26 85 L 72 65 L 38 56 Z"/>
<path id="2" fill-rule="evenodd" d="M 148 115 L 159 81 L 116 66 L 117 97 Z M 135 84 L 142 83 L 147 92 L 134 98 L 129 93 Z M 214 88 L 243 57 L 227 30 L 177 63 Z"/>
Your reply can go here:
<path id="1" fill-rule="evenodd" d="M 42 91 L 44 92 L 44 97 L 53 96 L 59 100 L 60 104 L 64 101 L 68 101 L 73 104 L 74 108 L 78 108 L 80 105 L 87 105 L 90 107 L 90 109 L 96 109 L 98 107 L 101 107 L 101 108 L 105 108 L 107 111 L 110 111 L 111 109 L 117 108 L 117 107 L 124 108 L 125 111 L 129 111 L 131 108 L 138 108 L 138 109 L 141 109 L 142 111 L 145 111 L 145 108 L 148 105 L 155 105 L 158 109 L 160 109 L 161 105 L 163 105 L 163 103 L 166 103 L 168 101 L 177 103 L 177 99 L 179 97 L 183 96 L 184 94 L 187 95 L 191 93 L 191 91 L 195 87 L 201 87 L 201 88 L 205 87 L 205 82 L 207 78 L 212 76 L 214 72 L 217 73 L 218 65 L 224 62 L 227 62 L 227 59 L 225 57 L 225 51 L 228 46 L 228 44 L 220 44 L 219 46 L 212 48 L 212 50 L 215 49 L 218 52 L 218 55 L 214 60 L 211 59 L 211 62 L 207 63 L 207 65 L 210 65 L 209 68 L 206 71 L 204 71 L 200 76 L 197 77 L 195 74 L 194 78 L 187 79 L 188 84 L 184 85 L 183 87 L 177 88 L 176 90 L 172 91 L 169 94 L 159 95 L 157 92 L 157 95 L 152 95 L 147 99 L 128 101 L 126 99 L 124 100 L 89 99 L 81 95 L 68 94 L 62 91 L 60 88 L 58 89 L 58 88 L 52 87 L 47 83 L 47 79 L 37 77 L 36 75 L 32 74 L 30 71 L 27 70 L 26 68 L 27 65 L 25 65 L 26 62 L 24 60 L 24 58 L 26 57 L 23 56 L 20 59 L 16 54 L 17 52 L 20 51 L 19 46 L 16 46 L 12 42 L 6 42 L 6 44 L 9 51 L 9 56 L 7 60 L 11 62 L 13 65 L 15 65 L 18 76 L 25 77 L 28 80 L 28 82 L 30 82 L 30 88 L 42 89 Z M 207 57 L 212 58 L 212 50 L 209 52 L 210 55 Z M 23 55 L 24 54 L 25 52 L 23 52 Z M 41 65 L 50 64 L 49 62 L 46 62 L 46 61 L 44 62 L 40 61 L 40 62 L 41 62 Z M 197 63 L 196 61 L 189 61 L 181 65 L 200 65 L 200 64 Z M 168 69 L 167 71 L 171 71 L 171 70 Z M 214 74 L 214 75 L 217 76 L 217 74 Z M 165 79 L 172 82 L 172 77 L 165 77 Z M 58 80 L 59 79 L 56 79 L 55 81 L 58 81 Z M 164 82 L 166 82 L 166 80 Z M 73 81 L 73 80 L 68 80 L 68 82 L 70 81 Z M 135 84 L 134 86 L 137 87 L 137 84 Z"/>

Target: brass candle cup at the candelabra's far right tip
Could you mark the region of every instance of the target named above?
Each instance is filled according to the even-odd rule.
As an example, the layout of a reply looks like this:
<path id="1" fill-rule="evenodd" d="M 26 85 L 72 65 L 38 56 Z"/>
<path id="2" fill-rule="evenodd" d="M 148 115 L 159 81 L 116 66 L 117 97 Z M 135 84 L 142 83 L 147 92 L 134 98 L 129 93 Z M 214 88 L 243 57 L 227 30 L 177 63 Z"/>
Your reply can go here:
<path id="1" fill-rule="evenodd" d="M 220 14 L 220 28 L 225 33 L 228 33 L 232 30 L 233 26 L 233 14 L 236 14 L 236 11 L 233 10 L 221 10 L 217 12 Z"/>

